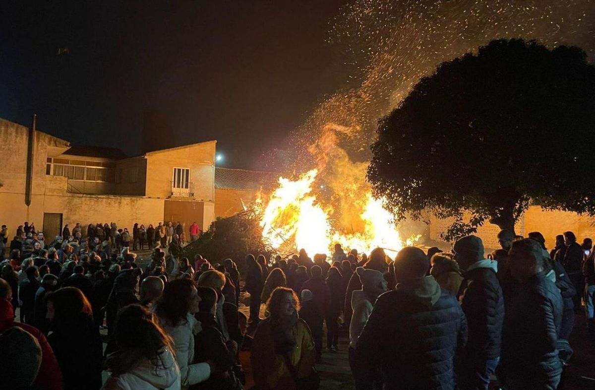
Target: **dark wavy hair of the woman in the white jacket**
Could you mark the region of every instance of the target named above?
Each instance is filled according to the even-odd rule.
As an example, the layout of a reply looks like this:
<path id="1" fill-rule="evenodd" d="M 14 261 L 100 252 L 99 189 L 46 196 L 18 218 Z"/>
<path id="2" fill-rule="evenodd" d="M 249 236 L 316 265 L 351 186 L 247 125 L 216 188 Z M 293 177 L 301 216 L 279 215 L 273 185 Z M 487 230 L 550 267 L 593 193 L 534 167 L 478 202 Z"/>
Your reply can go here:
<path id="1" fill-rule="evenodd" d="M 155 310 L 159 319 L 165 320 L 171 326 L 184 323 L 190 310 L 193 288 L 194 283 L 190 279 L 176 279 L 167 283 Z"/>

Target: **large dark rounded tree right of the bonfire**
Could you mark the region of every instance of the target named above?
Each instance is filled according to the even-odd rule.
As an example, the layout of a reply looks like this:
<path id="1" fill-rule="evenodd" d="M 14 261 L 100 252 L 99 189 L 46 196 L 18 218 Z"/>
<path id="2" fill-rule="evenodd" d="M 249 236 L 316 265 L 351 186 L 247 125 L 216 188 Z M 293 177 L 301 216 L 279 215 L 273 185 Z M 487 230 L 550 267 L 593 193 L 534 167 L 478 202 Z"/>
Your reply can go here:
<path id="1" fill-rule="evenodd" d="M 493 40 L 421 79 L 372 153 L 373 194 L 397 220 L 455 217 L 446 239 L 514 229 L 531 201 L 593 215 L 595 67 L 580 48 Z"/>

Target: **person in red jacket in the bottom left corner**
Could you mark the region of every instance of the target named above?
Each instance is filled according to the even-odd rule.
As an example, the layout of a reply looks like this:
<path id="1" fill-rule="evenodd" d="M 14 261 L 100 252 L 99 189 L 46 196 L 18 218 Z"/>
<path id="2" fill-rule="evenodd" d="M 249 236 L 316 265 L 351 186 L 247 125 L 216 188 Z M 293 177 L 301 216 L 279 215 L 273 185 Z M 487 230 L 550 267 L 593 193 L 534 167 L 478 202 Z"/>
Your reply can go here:
<path id="1" fill-rule="evenodd" d="M 4 279 L 0 279 L 0 334 L 6 332 L 9 329 L 13 328 L 20 328 L 25 330 L 26 332 L 30 333 L 33 338 L 39 343 L 41 352 L 42 352 L 42 360 L 41 366 L 39 367 L 39 373 L 37 373 L 37 377 L 33 376 L 29 379 L 35 379 L 36 388 L 44 389 L 44 390 L 61 390 L 64 380 L 62 379 L 62 372 L 60 371 L 60 367 L 58 366 L 58 361 L 54 355 L 54 351 L 52 351 L 52 347 L 49 345 L 48 340 L 46 339 L 45 335 L 40 332 L 39 329 L 14 321 L 14 310 L 11 305 L 12 297 L 14 296 L 12 292 L 11 286 L 6 282 Z M 8 356 L 8 350 L 0 348 L 3 357 Z M 18 348 L 15 349 L 18 355 L 26 355 L 26 351 L 24 350 L 22 345 L 19 345 Z M 8 366 L 5 364 L 0 365 L 2 367 L 2 371 L 6 371 Z M 12 375 L 12 373 L 7 373 L 8 375 Z M 10 388 L 7 385 L 7 382 L 0 382 L 0 387 Z"/>

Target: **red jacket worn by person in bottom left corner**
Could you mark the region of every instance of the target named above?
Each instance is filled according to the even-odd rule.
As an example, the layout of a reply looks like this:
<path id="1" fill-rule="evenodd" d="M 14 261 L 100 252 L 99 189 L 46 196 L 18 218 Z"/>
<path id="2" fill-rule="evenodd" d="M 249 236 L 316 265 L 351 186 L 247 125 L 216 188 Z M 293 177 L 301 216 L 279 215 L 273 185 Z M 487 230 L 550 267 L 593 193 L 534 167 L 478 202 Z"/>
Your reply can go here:
<path id="1" fill-rule="evenodd" d="M 58 361 L 54 356 L 54 351 L 48 343 L 43 333 L 36 327 L 14 322 L 14 314 L 12 314 L 12 304 L 7 299 L 0 298 L 0 333 L 4 333 L 11 327 L 18 326 L 23 330 L 31 333 L 37 339 L 41 347 L 42 359 L 39 373 L 35 379 L 35 385 L 43 390 L 62 390 L 64 388 L 64 381 L 62 380 L 62 372 Z"/>

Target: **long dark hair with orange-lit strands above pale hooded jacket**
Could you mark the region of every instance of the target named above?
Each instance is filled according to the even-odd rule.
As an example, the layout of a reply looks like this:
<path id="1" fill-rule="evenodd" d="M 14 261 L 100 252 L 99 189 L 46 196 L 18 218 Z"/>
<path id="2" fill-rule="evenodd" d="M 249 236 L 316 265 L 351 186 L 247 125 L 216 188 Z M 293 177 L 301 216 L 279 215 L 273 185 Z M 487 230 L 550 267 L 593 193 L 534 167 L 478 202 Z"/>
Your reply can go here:
<path id="1" fill-rule="evenodd" d="M 155 314 L 139 304 L 120 310 L 115 320 L 114 336 L 120 350 L 106 361 L 108 370 L 114 375 L 130 372 L 143 358 L 151 361 L 156 373 L 159 368 L 165 368 L 161 357 L 164 348 L 175 353 L 173 341 L 159 326 Z"/>

